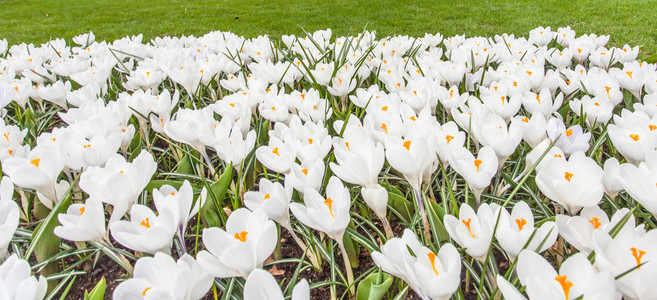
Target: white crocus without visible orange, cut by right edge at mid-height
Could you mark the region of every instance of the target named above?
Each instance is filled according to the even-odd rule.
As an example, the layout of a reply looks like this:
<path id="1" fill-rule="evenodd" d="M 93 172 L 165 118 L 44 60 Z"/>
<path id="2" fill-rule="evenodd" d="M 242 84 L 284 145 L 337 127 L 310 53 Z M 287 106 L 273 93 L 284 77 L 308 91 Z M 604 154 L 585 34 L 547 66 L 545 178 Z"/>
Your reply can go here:
<path id="1" fill-rule="evenodd" d="M 657 215 L 657 151 L 646 153 L 646 161 L 620 166 L 618 181 L 623 189 L 646 210 Z"/>

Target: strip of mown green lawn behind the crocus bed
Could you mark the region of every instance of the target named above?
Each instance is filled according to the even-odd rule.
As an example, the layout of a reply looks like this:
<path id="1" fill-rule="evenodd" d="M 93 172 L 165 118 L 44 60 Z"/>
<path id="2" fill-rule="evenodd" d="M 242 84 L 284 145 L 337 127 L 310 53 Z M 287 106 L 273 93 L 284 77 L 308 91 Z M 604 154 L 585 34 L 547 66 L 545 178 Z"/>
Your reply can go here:
<path id="1" fill-rule="evenodd" d="M 492 36 L 528 34 L 537 26 L 571 26 L 578 34 L 610 34 L 610 45 L 639 45 L 657 52 L 654 0 L 614 1 L 255 1 L 255 0 L 0 0 L 0 39 L 43 43 L 92 30 L 97 40 L 143 33 L 202 35 L 212 30 L 246 37 L 332 28 L 346 35 L 364 28 L 379 36 Z"/>

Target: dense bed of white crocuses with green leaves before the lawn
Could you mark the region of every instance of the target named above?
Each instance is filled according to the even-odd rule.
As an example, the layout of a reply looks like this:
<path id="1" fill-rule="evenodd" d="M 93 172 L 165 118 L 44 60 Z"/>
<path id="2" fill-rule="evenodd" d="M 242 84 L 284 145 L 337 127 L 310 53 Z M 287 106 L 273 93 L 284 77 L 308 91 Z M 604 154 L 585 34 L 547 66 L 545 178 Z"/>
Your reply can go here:
<path id="1" fill-rule="evenodd" d="M 0 41 L 0 274 L 17 274 L 0 282 L 11 299 L 652 297 L 657 71 L 608 39 Z"/>

